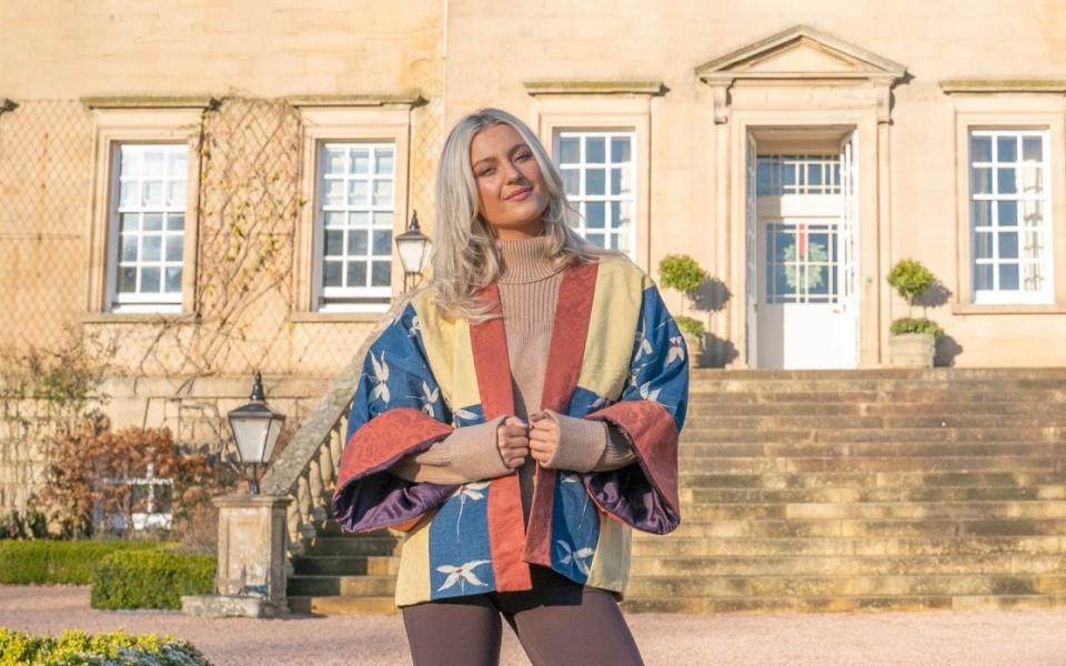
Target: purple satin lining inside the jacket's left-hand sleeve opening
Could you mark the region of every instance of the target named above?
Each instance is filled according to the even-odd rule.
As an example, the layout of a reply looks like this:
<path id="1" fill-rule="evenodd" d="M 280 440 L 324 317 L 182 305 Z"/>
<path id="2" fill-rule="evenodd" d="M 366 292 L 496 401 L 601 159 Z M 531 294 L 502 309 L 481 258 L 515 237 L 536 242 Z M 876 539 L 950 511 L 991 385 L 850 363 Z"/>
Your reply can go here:
<path id="1" fill-rule="evenodd" d="M 353 476 L 333 495 L 333 517 L 344 532 L 369 532 L 399 525 L 421 516 L 444 503 L 459 490 L 454 484 L 415 483 L 388 472 L 401 457 L 421 453 L 433 442 L 412 446 L 410 451 L 384 464 Z"/>

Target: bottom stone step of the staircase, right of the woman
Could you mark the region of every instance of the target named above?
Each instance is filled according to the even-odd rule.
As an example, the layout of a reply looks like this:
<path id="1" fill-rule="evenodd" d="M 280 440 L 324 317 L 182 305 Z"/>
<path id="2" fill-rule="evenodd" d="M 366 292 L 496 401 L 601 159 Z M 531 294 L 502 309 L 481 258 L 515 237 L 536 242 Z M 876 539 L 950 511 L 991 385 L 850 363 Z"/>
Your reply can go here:
<path id="1" fill-rule="evenodd" d="M 792 614 L 921 610 L 1037 610 L 1066 607 L 1066 594 L 780 596 L 711 598 L 626 597 L 624 613 Z"/>

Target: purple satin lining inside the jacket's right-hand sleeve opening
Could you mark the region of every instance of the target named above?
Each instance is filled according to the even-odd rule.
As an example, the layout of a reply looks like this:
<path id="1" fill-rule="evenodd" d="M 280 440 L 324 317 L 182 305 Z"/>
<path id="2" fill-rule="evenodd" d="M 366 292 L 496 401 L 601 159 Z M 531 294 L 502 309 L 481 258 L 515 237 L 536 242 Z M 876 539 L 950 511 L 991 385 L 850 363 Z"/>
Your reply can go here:
<path id="1" fill-rule="evenodd" d="M 584 474 L 585 490 L 604 511 L 622 518 L 634 529 L 652 534 L 673 532 L 681 524 L 681 516 L 652 487 L 643 464 Z"/>

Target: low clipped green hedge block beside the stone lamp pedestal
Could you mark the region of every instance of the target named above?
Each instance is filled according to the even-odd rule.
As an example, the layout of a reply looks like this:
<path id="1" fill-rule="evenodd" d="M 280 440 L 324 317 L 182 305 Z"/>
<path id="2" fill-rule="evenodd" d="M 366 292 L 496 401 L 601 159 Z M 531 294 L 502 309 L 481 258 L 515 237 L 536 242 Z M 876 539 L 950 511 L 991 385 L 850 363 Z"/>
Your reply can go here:
<path id="1" fill-rule="evenodd" d="M 211 594 L 214 557 L 165 551 L 112 553 L 92 572 L 93 608 L 181 608 L 181 595 Z"/>

